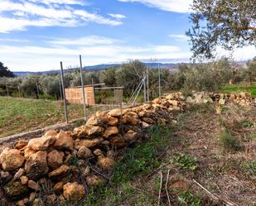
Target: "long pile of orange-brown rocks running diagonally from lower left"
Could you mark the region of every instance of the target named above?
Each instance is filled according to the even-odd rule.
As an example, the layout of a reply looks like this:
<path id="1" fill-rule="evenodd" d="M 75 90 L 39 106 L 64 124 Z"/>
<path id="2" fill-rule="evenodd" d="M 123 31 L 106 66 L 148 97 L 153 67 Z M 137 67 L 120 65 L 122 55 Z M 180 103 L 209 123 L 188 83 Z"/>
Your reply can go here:
<path id="1" fill-rule="evenodd" d="M 183 110 L 184 100 L 174 93 L 138 107 L 97 112 L 73 132 L 51 130 L 5 148 L 0 155 L 1 204 L 83 201 L 87 186 L 104 182 L 104 174 L 113 169 L 114 151 L 146 139 L 143 129 L 166 124 L 172 110 Z"/>

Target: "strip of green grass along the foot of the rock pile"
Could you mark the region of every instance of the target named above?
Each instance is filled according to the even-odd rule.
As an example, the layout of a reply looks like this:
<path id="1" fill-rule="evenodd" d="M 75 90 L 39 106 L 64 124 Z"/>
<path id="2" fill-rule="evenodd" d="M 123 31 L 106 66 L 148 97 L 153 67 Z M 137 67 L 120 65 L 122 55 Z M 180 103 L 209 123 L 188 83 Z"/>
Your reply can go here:
<path id="1" fill-rule="evenodd" d="M 156 204 L 157 199 L 134 188 L 131 182 L 139 176 L 147 175 L 161 164 L 158 153 L 164 151 L 172 136 L 169 129 L 161 126 L 154 126 L 147 133 L 151 140 L 125 151 L 122 161 L 115 165 L 108 185 L 89 189 L 85 206 L 119 205 L 126 199 L 137 206 Z"/>

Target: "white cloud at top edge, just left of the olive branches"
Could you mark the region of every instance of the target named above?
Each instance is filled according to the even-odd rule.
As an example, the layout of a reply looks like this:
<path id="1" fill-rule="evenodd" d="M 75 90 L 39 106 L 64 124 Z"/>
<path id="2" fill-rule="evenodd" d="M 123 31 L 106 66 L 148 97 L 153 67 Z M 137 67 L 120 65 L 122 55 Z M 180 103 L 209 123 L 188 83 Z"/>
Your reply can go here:
<path id="1" fill-rule="evenodd" d="M 119 2 L 141 2 L 148 7 L 157 7 L 168 12 L 191 12 L 192 0 L 118 0 Z"/>

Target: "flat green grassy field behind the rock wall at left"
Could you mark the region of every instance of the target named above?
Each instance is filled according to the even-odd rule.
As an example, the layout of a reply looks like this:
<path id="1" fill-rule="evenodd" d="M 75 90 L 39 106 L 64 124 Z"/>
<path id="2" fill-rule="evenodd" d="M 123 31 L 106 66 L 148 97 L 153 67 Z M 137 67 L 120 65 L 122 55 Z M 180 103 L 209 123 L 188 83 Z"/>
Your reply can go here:
<path id="1" fill-rule="evenodd" d="M 94 113 L 99 108 L 88 108 Z M 84 116 L 83 106 L 69 104 L 70 119 Z M 64 107 L 60 102 L 28 98 L 0 97 L 0 137 L 27 132 L 41 127 L 65 122 Z"/>

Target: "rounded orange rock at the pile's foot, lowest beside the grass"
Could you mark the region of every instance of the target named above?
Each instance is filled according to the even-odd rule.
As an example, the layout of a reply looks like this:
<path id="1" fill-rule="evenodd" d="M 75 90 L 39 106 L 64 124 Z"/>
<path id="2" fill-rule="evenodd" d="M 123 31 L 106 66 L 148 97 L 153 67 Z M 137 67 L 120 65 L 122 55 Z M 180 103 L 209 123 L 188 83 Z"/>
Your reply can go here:
<path id="1" fill-rule="evenodd" d="M 63 186 L 63 196 L 68 202 L 77 203 L 85 198 L 85 188 L 77 182 L 67 183 Z"/>

